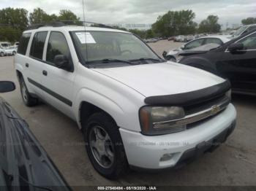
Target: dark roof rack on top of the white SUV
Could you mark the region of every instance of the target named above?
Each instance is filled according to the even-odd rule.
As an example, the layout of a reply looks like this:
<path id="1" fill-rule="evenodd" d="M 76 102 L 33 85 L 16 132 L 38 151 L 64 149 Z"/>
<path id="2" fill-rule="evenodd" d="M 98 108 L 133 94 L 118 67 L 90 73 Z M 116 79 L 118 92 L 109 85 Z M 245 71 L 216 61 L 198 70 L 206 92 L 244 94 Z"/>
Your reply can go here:
<path id="1" fill-rule="evenodd" d="M 61 26 L 86 26 L 86 23 L 91 24 L 93 27 L 101 27 L 101 28 L 113 28 L 112 26 L 107 26 L 101 23 L 93 23 L 89 21 L 80 21 L 80 20 L 58 20 L 50 23 L 39 23 L 28 26 L 26 30 L 37 29 L 44 26 L 52 26 L 52 27 L 61 27 Z"/>

